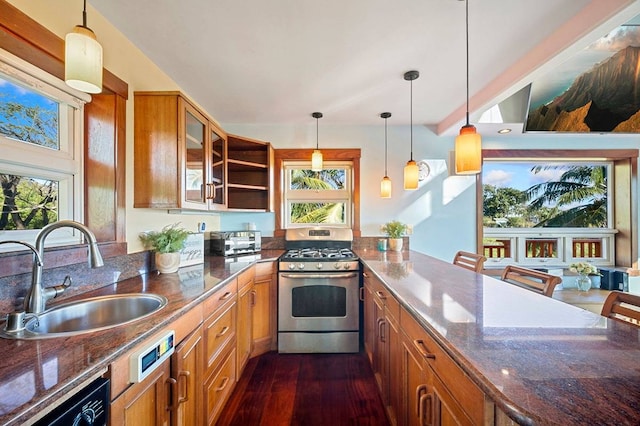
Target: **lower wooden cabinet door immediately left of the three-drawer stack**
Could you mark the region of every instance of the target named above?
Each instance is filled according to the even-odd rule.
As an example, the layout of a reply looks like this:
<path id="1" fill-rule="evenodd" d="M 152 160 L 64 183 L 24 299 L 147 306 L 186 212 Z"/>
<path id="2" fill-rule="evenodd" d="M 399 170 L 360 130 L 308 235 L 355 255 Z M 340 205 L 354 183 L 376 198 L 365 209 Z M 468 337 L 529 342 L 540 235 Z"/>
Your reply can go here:
<path id="1" fill-rule="evenodd" d="M 198 327 L 171 356 L 171 377 L 174 379 L 171 424 L 174 426 L 202 424 L 204 362 L 202 328 Z"/>

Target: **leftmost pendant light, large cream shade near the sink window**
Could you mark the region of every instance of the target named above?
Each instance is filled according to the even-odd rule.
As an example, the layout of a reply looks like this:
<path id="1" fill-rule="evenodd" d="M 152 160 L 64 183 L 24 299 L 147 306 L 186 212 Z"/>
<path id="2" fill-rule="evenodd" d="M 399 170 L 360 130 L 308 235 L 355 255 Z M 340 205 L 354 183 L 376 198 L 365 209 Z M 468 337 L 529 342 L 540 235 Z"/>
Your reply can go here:
<path id="1" fill-rule="evenodd" d="M 102 92 L 102 46 L 87 27 L 87 0 L 82 25 L 76 25 L 64 39 L 64 81 L 86 93 Z"/>

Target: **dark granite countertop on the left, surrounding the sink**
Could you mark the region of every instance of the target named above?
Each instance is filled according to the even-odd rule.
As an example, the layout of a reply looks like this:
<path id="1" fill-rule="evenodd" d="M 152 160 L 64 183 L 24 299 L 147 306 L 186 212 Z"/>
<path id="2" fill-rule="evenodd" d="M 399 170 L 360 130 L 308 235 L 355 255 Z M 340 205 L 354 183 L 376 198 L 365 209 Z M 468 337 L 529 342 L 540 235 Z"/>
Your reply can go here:
<path id="1" fill-rule="evenodd" d="M 235 259 L 205 257 L 204 264 L 181 268 L 175 274 L 141 275 L 82 295 L 149 292 L 167 297 L 167 306 L 142 321 L 68 338 L 0 339 L 0 425 L 23 424 L 49 411 L 103 374 L 118 356 L 197 306 L 229 278 L 256 261 L 276 259 L 281 253 L 263 250 L 260 255 Z"/>

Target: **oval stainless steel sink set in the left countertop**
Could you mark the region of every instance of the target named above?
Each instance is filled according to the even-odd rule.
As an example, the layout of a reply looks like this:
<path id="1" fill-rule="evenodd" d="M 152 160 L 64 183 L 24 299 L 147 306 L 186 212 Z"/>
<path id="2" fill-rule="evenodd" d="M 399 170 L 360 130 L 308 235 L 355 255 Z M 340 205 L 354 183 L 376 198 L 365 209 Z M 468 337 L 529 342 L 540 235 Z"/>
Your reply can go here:
<path id="1" fill-rule="evenodd" d="M 149 316 L 167 304 L 156 294 L 129 293 L 93 297 L 54 306 L 31 317 L 18 332 L 1 332 L 12 339 L 72 336 L 124 325 Z"/>

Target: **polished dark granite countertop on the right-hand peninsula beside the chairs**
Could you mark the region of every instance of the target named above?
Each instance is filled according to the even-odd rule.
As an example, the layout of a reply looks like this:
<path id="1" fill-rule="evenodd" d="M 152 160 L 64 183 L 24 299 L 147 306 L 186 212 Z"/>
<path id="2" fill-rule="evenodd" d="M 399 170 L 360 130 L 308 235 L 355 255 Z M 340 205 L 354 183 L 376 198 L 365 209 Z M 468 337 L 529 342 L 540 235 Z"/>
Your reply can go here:
<path id="1" fill-rule="evenodd" d="M 362 261 L 520 424 L 640 424 L 640 328 L 415 252 Z"/>

